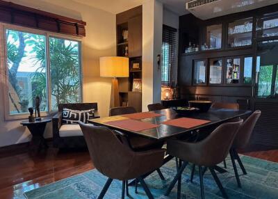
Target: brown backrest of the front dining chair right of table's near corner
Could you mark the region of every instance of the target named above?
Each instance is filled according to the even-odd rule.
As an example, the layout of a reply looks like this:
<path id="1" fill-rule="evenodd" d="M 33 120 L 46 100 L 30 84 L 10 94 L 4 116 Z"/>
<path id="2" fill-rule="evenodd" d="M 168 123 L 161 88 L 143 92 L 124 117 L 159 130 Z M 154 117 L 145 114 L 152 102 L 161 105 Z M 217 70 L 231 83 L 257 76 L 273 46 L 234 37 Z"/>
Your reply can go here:
<path id="1" fill-rule="evenodd" d="M 217 127 L 203 141 L 197 143 L 202 148 L 202 158 L 199 158 L 200 164 L 214 166 L 222 162 L 227 157 L 238 129 L 242 124 L 243 120 L 224 123 Z"/>

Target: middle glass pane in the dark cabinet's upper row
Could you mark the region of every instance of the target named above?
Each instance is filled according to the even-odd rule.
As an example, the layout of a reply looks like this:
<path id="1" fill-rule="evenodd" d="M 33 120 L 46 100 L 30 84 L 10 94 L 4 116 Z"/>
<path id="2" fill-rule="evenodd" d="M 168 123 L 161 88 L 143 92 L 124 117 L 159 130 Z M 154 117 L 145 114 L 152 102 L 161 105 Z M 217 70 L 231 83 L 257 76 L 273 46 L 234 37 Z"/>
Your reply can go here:
<path id="1" fill-rule="evenodd" d="M 253 18 L 239 19 L 228 25 L 228 47 L 252 45 Z"/>

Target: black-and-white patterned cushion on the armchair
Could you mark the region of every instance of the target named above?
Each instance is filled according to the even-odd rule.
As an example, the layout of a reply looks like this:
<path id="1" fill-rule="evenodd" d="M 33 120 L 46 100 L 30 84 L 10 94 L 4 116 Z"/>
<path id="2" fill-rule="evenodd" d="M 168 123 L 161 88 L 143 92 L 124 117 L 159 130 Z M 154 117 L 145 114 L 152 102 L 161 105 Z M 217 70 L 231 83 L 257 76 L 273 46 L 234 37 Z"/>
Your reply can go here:
<path id="1" fill-rule="evenodd" d="M 87 122 L 87 120 L 94 118 L 95 109 L 78 111 L 72 109 L 63 109 L 63 124 L 77 124 L 78 122 Z"/>

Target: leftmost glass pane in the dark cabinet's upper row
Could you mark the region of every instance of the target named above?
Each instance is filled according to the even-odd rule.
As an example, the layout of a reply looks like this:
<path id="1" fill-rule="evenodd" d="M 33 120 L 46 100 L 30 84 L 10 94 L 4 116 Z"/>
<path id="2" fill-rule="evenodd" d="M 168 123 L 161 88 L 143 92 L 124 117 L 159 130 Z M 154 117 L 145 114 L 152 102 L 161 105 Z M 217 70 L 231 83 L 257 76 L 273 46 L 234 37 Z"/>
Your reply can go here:
<path id="1" fill-rule="evenodd" d="M 202 50 L 221 49 L 222 24 L 206 26 L 202 35 Z"/>

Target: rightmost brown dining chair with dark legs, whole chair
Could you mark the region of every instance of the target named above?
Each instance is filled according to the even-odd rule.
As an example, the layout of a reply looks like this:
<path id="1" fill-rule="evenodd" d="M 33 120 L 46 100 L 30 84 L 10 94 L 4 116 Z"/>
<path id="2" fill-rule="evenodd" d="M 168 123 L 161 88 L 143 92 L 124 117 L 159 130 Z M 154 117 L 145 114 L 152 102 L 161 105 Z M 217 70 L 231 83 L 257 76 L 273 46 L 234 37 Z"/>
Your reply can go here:
<path id="1" fill-rule="evenodd" d="M 247 172 L 243 166 L 242 161 L 240 160 L 240 157 L 238 156 L 237 150 L 243 149 L 247 146 L 247 144 L 250 141 L 250 137 L 252 135 L 252 132 L 254 130 L 254 127 L 256 125 L 256 122 L 259 120 L 259 117 L 261 116 L 261 111 L 257 110 L 252 113 L 251 116 L 249 116 L 245 122 L 243 122 L 243 125 L 241 125 L 240 129 L 238 129 L 238 133 L 236 134 L 236 138 L 234 139 L 234 143 L 231 146 L 230 150 L 230 156 L 231 156 L 231 163 L 234 168 L 234 173 L 236 175 L 236 182 L 238 184 L 238 187 L 241 187 L 240 178 L 238 176 L 238 170 L 236 168 L 236 161 L 238 161 L 238 164 L 243 171 L 243 174 L 246 175 Z"/>

